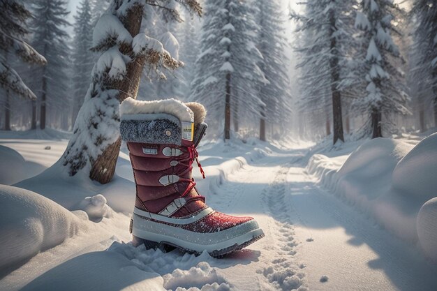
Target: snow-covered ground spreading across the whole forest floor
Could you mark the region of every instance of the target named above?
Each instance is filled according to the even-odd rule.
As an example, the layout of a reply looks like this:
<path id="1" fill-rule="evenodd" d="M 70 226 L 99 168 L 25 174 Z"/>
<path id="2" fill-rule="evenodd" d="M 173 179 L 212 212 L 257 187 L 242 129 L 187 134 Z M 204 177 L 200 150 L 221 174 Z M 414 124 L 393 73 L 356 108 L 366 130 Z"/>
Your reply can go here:
<path id="1" fill-rule="evenodd" d="M 0 183 L 21 187 L 0 185 L 0 290 L 437 290 L 435 135 L 336 149 L 203 142 L 200 193 L 266 234 L 221 259 L 134 248 L 126 151 L 108 185 L 61 179 L 43 171 L 64 138 L 0 132 Z"/>

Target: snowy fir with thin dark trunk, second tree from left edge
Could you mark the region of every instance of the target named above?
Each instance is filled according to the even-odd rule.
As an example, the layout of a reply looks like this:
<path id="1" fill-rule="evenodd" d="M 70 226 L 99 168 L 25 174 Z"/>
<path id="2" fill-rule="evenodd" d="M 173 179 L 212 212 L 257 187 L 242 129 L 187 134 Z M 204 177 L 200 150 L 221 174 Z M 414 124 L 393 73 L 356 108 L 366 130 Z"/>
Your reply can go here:
<path id="1" fill-rule="evenodd" d="M 67 2 L 64 0 L 35 0 L 31 10 L 32 45 L 47 59 L 47 66 L 31 68 L 31 89 L 38 96 L 40 128 L 46 126 L 47 108 L 53 113 L 69 103 L 69 47 L 65 27 Z M 33 110 L 35 112 L 35 110 Z"/>

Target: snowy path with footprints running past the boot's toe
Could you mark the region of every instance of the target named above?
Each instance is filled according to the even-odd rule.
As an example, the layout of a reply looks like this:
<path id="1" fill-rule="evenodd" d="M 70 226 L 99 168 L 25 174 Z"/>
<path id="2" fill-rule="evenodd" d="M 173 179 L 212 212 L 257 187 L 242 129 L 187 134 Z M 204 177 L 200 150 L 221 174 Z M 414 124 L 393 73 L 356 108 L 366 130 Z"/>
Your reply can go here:
<path id="1" fill-rule="evenodd" d="M 236 290 L 437 290 L 435 266 L 316 187 L 305 160 L 290 152 L 245 165 L 214 200 L 266 234 L 246 251 L 250 264 L 222 266 Z"/>

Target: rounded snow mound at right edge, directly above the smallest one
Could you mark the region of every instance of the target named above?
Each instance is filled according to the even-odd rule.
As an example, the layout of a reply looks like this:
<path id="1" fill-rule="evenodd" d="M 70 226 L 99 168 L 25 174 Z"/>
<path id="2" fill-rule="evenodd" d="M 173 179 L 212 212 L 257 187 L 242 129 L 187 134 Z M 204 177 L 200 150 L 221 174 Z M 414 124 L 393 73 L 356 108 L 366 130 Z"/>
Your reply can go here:
<path id="1" fill-rule="evenodd" d="M 422 203 L 437 196 L 437 133 L 422 140 L 399 161 L 393 172 L 393 187 Z"/>

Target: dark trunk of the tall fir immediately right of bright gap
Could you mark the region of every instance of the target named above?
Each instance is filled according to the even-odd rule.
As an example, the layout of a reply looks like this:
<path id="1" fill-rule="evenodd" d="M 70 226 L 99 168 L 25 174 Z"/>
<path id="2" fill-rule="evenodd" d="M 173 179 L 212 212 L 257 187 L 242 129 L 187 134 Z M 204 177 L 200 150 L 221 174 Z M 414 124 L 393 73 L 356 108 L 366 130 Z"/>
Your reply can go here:
<path id="1" fill-rule="evenodd" d="M 338 51 L 336 47 L 336 38 L 333 36 L 335 32 L 335 17 L 334 12 L 331 11 L 331 15 L 329 17 L 331 24 L 331 53 L 333 57 L 329 61 L 329 65 L 331 67 L 331 91 L 332 91 L 332 124 L 333 124 L 333 144 L 337 142 L 337 140 L 341 140 L 344 142 L 343 137 L 343 120 L 341 114 L 341 94 L 337 89 L 337 84 L 340 82 L 340 68 L 339 68 L 339 57 Z"/>

